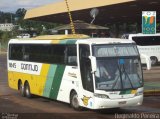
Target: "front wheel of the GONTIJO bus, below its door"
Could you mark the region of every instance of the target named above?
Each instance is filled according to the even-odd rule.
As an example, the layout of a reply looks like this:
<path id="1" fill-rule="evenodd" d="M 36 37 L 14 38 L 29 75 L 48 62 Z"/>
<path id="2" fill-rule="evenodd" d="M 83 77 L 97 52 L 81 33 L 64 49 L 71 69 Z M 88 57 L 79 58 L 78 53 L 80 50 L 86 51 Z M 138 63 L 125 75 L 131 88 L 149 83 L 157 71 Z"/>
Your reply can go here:
<path id="1" fill-rule="evenodd" d="M 71 93 L 70 105 L 75 110 L 80 110 L 79 101 L 78 101 L 78 95 L 77 95 L 77 93 L 75 91 Z"/>

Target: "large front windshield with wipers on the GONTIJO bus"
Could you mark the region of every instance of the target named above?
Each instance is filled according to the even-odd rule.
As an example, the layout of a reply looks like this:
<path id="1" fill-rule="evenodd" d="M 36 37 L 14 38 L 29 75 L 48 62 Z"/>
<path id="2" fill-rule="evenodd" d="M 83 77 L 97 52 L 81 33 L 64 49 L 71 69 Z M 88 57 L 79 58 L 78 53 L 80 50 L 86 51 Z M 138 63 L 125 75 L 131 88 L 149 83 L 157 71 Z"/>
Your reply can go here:
<path id="1" fill-rule="evenodd" d="M 100 48 L 100 46 L 98 47 Z M 95 86 L 97 90 L 137 89 L 143 86 L 141 64 L 138 57 L 138 52 L 131 46 L 130 50 L 135 52 L 128 52 L 127 56 L 125 56 L 126 54 L 124 53 L 121 53 L 122 56 L 116 57 L 101 57 L 101 55 L 97 55 L 97 71 L 95 72 Z M 136 53 L 137 56 L 129 56 L 136 55 Z M 94 54 L 96 54 L 96 52 L 94 52 Z"/>

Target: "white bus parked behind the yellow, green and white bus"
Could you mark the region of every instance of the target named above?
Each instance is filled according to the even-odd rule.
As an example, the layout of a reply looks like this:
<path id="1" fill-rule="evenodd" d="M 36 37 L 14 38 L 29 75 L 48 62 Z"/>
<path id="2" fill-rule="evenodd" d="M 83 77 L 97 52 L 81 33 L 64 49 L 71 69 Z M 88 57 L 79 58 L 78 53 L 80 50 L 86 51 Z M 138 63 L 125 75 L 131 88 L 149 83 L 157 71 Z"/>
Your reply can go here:
<path id="1" fill-rule="evenodd" d="M 126 34 L 122 38 L 133 40 L 138 45 L 140 54 L 146 55 L 151 60 L 151 65 L 157 65 L 160 62 L 160 33 L 157 34 Z M 142 63 L 146 63 L 144 57 Z"/>

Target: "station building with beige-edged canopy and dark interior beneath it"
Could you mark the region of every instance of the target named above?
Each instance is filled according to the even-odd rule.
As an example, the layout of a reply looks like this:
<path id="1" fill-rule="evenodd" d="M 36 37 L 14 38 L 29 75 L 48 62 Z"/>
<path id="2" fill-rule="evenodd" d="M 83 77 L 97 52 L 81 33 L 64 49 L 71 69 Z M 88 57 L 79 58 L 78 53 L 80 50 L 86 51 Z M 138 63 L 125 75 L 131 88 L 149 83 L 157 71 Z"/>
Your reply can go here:
<path id="1" fill-rule="evenodd" d="M 98 13 L 94 24 L 109 27 L 111 37 L 142 32 L 142 11 L 156 11 L 157 31 L 160 31 L 160 0 L 68 0 L 68 4 L 73 21 L 91 23 L 93 15 L 90 13 L 96 8 Z M 70 23 L 64 0 L 27 10 L 24 19 Z"/>

